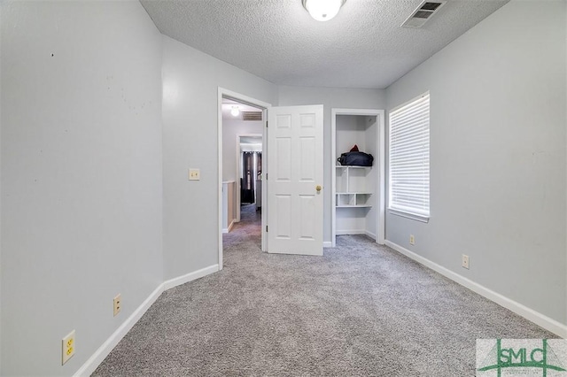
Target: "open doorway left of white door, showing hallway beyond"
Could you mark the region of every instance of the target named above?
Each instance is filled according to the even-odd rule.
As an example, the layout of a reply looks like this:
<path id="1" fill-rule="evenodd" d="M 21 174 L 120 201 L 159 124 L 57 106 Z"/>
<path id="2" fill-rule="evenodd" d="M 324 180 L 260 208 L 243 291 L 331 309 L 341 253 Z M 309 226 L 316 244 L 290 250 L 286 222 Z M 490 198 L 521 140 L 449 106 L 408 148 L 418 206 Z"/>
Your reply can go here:
<path id="1" fill-rule="evenodd" d="M 257 227 L 260 250 L 267 247 L 262 231 L 268 208 L 265 201 L 265 140 L 270 104 L 219 88 L 219 268 L 222 268 L 223 234 L 245 220 Z M 264 155 L 264 156 L 262 156 Z M 265 170 L 265 169 L 264 169 Z M 244 219 L 243 219 L 244 216 Z"/>

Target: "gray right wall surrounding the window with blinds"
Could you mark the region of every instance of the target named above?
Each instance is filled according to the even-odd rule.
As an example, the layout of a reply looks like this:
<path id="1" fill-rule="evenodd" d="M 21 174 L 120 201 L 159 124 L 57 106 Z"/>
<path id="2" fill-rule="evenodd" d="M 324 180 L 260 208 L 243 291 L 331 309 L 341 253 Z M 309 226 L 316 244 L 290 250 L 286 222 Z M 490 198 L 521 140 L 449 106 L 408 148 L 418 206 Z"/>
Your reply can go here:
<path id="1" fill-rule="evenodd" d="M 512 1 L 387 89 L 431 92 L 431 219 L 386 238 L 562 323 L 565 4 Z"/>

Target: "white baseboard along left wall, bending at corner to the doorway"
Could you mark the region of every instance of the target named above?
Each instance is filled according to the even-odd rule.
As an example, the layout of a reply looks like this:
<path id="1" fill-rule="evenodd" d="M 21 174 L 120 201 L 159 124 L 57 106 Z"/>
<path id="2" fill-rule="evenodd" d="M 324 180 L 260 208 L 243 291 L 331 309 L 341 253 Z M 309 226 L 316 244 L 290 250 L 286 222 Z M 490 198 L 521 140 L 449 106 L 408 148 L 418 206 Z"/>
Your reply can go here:
<path id="1" fill-rule="evenodd" d="M 87 362 L 83 364 L 76 373 L 74 373 L 74 376 L 89 376 L 91 373 L 95 372 L 98 365 L 105 360 L 114 347 L 116 347 L 122 338 L 128 334 L 128 331 L 130 331 L 130 329 L 136 325 L 136 322 L 142 318 L 144 312 L 150 309 L 151 304 L 155 303 L 159 295 L 161 295 L 165 290 L 172 289 L 189 281 L 197 280 L 198 278 L 202 278 L 211 273 L 216 273 L 217 271 L 219 271 L 219 265 L 209 265 L 208 267 L 201 268 L 194 273 L 187 273 L 183 276 L 179 276 L 175 279 L 170 279 L 159 284 L 159 287 L 151 292 L 151 295 L 144 300 L 144 303 L 138 306 L 136 311 L 134 311 L 132 315 L 130 315 L 128 319 L 126 319 L 120 327 L 114 331 L 113 335 L 110 335 L 110 337 L 106 339 L 103 345 L 101 345 L 87 360 Z"/>

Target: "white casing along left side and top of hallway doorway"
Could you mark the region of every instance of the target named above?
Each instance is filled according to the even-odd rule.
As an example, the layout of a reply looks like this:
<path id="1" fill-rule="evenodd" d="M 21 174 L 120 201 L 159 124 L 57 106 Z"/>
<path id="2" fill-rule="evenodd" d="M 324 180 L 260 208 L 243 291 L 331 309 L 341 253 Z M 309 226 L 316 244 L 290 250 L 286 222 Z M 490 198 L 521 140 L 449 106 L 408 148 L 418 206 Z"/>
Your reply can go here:
<path id="1" fill-rule="evenodd" d="M 219 270 L 222 269 L 222 97 L 228 97 L 236 99 L 238 102 L 245 104 L 252 104 L 254 106 L 264 109 L 263 113 L 266 115 L 266 109 L 270 108 L 272 105 L 267 102 L 260 101 L 258 99 L 252 98 L 251 96 L 245 96 L 243 94 L 237 93 L 235 91 L 229 90 L 227 88 L 218 87 L 217 96 L 217 158 L 218 158 L 218 172 L 217 172 L 217 232 L 218 238 L 217 242 L 219 245 Z M 266 128 L 264 128 L 264 134 L 266 134 Z M 265 140 L 265 135 L 264 135 Z M 262 174 L 263 175 L 263 174 Z M 264 205 L 264 204 L 262 204 Z M 263 209 L 262 209 L 263 210 Z M 266 227 L 264 211 L 262 211 L 262 230 Z M 262 232 L 262 250 L 264 250 L 264 232 Z"/>

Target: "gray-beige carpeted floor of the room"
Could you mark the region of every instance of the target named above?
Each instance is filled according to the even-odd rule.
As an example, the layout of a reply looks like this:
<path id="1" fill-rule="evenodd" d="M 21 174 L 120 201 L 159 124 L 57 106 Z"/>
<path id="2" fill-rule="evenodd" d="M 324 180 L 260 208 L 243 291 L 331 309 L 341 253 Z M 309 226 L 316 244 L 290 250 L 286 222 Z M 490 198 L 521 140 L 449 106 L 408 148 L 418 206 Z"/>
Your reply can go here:
<path id="1" fill-rule="evenodd" d="M 262 253 L 252 209 L 224 269 L 159 296 L 93 375 L 473 376 L 477 338 L 556 337 L 365 236 Z"/>

